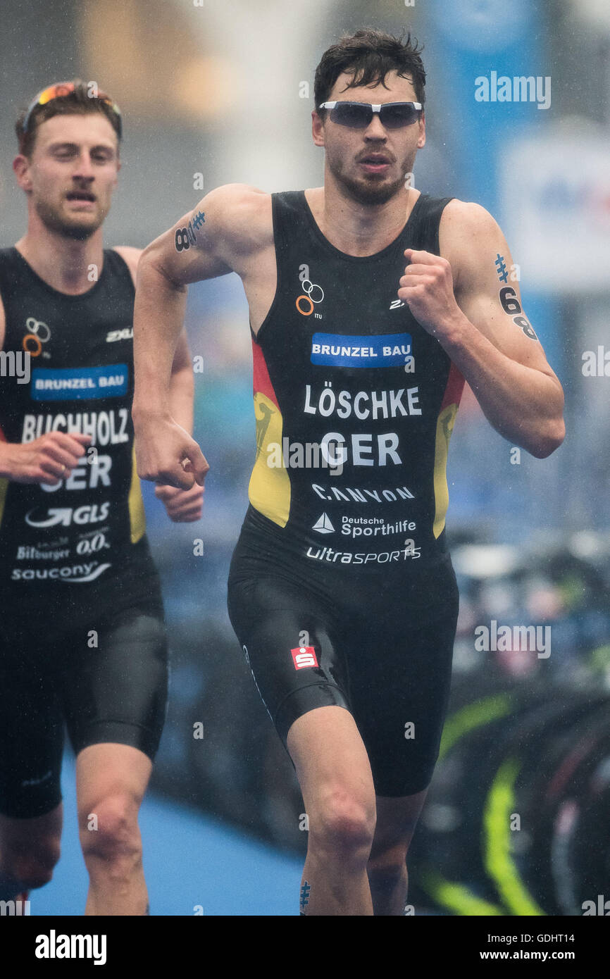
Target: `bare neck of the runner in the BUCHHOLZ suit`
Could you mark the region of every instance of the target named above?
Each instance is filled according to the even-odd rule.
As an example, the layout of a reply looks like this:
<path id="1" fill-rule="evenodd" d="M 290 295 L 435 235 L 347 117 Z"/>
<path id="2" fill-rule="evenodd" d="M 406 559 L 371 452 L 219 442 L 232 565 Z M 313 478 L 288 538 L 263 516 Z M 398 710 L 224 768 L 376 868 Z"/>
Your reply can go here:
<path id="1" fill-rule="evenodd" d="M 102 228 L 90 238 L 77 241 L 46 227 L 29 227 L 16 249 L 47 285 L 69 296 L 88 292 L 102 274 Z"/>

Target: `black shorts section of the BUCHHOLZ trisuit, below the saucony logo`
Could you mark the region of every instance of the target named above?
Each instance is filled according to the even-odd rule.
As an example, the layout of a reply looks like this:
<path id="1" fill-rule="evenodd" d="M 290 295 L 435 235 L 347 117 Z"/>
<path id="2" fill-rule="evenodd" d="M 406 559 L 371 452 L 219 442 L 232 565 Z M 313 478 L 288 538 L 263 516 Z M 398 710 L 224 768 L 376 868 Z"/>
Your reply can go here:
<path id="1" fill-rule="evenodd" d="M 164 611 L 156 576 L 97 605 L 14 605 L 0 625 L 0 813 L 43 816 L 62 800 L 64 725 L 77 754 L 131 745 L 153 760 L 167 700 Z M 72 585 L 72 588 L 75 587 Z M 109 590 L 108 588 L 106 589 Z M 139 592 L 139 594 L 138 594 Z M 54 610 L 54 611 L 53 611 Z M 21 613 L 21 614 L 20 614 Z"/>

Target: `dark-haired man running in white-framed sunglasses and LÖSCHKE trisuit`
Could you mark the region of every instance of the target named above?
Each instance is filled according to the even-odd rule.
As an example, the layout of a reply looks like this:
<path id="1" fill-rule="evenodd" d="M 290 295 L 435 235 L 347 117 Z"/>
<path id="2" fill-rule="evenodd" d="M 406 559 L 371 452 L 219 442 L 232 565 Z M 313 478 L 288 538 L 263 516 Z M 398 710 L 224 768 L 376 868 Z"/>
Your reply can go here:
<path id="1" fill-rule="evenodd" d="M 258 454 L 229 613 L 301 783 L 305 914 L 403 912 L 449 689 L 446 453 L 464 379 L 511 443 L 543 457 L 564 437 L 493 217 L 405 187 L 424 83 L 410 38 L 344 37 L 315 75 L 324 186 L 219 187 L 138 270 L 145 479 L 187 489 L 207 469 L 167 396 L 186 284 L 234 270 L 250 304 Z"/>

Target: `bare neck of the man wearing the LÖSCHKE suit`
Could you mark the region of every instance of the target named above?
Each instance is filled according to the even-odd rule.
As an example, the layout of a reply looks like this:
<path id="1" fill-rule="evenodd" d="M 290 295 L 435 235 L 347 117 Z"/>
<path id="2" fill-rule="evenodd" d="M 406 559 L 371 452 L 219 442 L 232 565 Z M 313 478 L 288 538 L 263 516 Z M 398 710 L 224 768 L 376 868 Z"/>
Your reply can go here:
<path id="1" fill-rule="evenodd" d="M 324 237 L 346 255 L 383 251 L 399 236 L 419 197 L 405 188 L 385 204 L 362 205 L 328 176 L 323 188 L 307 193 L 307 203 Z"/>

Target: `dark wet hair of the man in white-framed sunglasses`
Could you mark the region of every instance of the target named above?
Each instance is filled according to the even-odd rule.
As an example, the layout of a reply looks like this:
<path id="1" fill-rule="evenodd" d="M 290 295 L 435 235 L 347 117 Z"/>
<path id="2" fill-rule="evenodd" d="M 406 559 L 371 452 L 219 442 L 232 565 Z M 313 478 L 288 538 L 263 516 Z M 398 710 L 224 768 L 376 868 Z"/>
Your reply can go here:
<path id="1" fill-rule="evenodd" d="M 352 74 L 348 88 L 380 82 L 387 87 L 385 79 L 388 72 L 398 71 L 402 77 L 410 78 L 416 101 L 423 106 L 426 72 L 420 57 L 422 51 L 423 45 L 418 47 L 416 40 L 411 43 L 410 33 L 405 41 L 375 27 L 345 34 L 324 52 L 315 70 L 313 97 L 316 112 L 323 116 L 326 110 L 319 107 L 322 102 L 328 101 L 333 85 L 344 71 Z"/>

